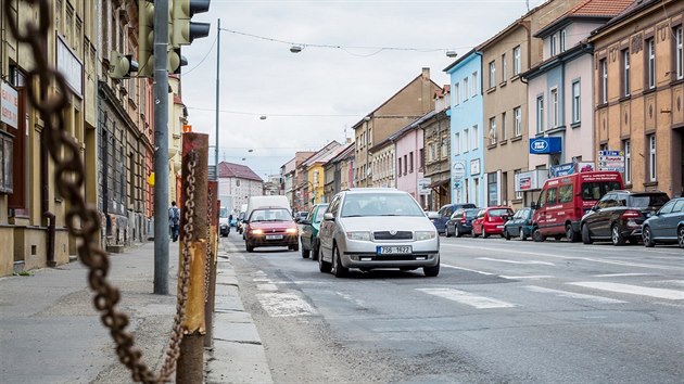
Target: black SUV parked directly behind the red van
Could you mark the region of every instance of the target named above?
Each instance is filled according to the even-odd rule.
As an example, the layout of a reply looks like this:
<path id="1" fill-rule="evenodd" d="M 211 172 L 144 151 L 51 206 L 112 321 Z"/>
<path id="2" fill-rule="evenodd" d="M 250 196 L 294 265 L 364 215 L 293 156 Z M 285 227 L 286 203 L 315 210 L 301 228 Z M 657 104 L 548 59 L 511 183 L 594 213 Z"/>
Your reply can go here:
<path id="1" fill-rule="evenodd" d="M 644 220 L 669 200 L 664 192 L 610 191 L 582 217 L 582 242 L 610 240 L 613 245 L 622 245 L 629 240 L 637 243 Z"/>

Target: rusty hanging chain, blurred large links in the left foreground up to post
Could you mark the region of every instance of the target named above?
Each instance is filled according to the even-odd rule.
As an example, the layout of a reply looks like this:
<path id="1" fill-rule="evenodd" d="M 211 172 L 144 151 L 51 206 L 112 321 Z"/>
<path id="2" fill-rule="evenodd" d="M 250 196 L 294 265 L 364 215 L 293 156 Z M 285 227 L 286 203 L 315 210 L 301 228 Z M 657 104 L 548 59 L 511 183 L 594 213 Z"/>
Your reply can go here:
<path id="1" fill-rule="evenodd" d="M 189 244 L 192 240 L 192 216 L 194 212 L 194 167 L 197 153 L 192 154 L 190 175 L 188 180 L 188 196 L 186 204 L 183 268 L 179 283 L 181 294 L 176 304 L 173 333 L 166 351 L 166 359 L 160 374 L 152 372 L 142 361 L 142 353 L 134 344 L 134 335 L 126 331 L 128 316 L 116 305 L 121 299 L 121 292 L 106 279 L 110 269 L 107 254 L 98 244 L 100 235 L 100 216 L 96 208 L 88 206 L 81 191 L 84 190 L 85 171 L 80 158 L 80 148 L 76 140 L 66 131 L 63 111 L 69 104 L 71 90 L 66 86 L 64 76 L 48 62 L 47 44 L 49 39 L 52 12 L 48 0 L 25 0 L 30 5 L 38 5 L 38 22 L 27 22 L 23 25 L 24 34 L 20 31 L 17 22 L 7 17 L 9 28 L 17 42 L 30 47 L 35 67 L 27 73 L 28 99 L 30 104 L 40 113 L 43 121 L 42 145 L 47 148 L 55 163 L 54 180 L 60 194 L 69 202 L 65 222 L 68 233 L 78 241 L 78 256 L 89 269 L 88 283 L 94 292 L 93 305 L 100 311 L 102 323 L 110 329 L 110 335 L 116 344 L 116 355 L 119 361 L 130 371 L 134 381 L 143 383 L 165 383 L 176 369 L 176 361 L 180 353 L 182 340 L 181 321 L 185 317 L 186 300 L 189 282 Z M 3 1 L 4 12 L 12 13 L 12 2 Z M 56 91 L 51 91 L 50 86 Z"/>

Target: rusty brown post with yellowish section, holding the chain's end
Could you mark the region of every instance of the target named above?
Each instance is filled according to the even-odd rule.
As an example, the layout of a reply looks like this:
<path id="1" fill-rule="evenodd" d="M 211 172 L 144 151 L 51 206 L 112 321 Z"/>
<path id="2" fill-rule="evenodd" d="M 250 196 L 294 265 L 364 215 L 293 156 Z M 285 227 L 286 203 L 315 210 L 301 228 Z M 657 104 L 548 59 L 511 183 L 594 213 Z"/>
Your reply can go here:
<path id="1" fill-rule="evenodd" d="M 194 209 L 192 216 L 192 232 L 189 248 L 190 281 L 188 287 L 188 302 L 186 316 L 182 319 L 183 337 L 180 342 L 180 354 L 176 363 L 176 383 L 203 383 L 204 377 L 204 298 L 206 281 L 204 280 L 206 251 L 210 246 L 207 228 L 210 226 L 207 215 L 207 184 L 208 184 L 208 135 L 183 133 L 182 135 L 182 180 L 188 179 L 190 153 L 197 153 L 197 166 L 194 170 Z M 185 213 L 189 196 L 187 190 L 180 193 L 180 210 L 183 212 L 180 219 L 180 228 L 186 225 Z M 180 249 L 185 249 L 185 233 L 181 236 Z M 185 255 L 180 253 L 179 268 L 182 268 Z"/>

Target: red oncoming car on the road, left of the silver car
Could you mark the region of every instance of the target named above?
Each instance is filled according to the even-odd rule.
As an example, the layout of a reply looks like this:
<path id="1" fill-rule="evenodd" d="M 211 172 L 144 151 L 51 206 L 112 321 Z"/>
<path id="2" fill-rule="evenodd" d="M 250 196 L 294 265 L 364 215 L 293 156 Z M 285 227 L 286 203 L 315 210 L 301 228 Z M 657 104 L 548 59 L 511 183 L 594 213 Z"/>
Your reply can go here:
<path id="1" fill-rule="evenodd" d="M 244 246 L 248 252 L 257 246 L 287 246 L 300 251 L 299 229 L 290 212 L 281 207 L 252 210 L 244 229 Z"/>

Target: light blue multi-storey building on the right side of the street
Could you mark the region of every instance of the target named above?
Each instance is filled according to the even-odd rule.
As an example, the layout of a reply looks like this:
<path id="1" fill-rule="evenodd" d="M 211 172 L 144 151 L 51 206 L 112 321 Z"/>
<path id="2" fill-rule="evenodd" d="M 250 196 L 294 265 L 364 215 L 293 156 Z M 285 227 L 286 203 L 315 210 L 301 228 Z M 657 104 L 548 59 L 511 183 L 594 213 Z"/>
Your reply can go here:
<path id="1" fill-rule="evenodd" d="M 482 54 L 473 49 L 444 72 L 452 86 L 452 203 L 485 206 Z"/>

